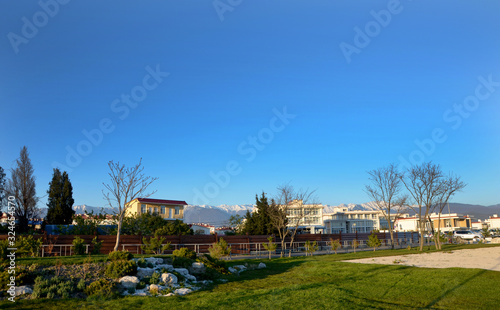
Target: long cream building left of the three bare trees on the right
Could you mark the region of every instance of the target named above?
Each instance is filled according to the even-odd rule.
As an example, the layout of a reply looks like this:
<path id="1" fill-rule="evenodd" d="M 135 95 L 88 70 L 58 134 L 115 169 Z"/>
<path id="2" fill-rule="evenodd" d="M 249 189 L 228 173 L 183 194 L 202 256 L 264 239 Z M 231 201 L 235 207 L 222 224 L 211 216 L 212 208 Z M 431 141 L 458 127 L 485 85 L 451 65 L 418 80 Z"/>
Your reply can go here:
<path id="1" fill-rule="evenodd" d="M 346 207 L 338 207 L 333 213 L 323 215 L 325 233 L 369 233 L 380 230 L 382 212 L 380 211 L 349 211 Z M 385 221 L 387 222 L 387 221 Z"/>

